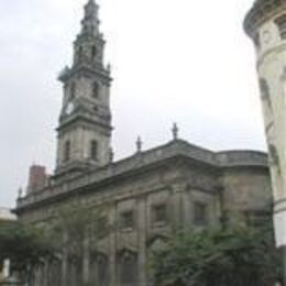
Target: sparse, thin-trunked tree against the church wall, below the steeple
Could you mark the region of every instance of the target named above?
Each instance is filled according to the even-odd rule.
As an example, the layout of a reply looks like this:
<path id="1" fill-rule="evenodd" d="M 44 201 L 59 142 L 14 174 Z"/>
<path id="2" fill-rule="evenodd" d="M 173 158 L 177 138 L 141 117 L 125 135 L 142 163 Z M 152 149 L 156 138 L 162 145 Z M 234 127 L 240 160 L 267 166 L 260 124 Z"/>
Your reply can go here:
<path id="1" fill-rule="evenodd" d="M 90 283 L 89 258 L 97 253 L 98 242 L 110 229 L 103 209 L 68 205 L 58 211 L 50 235 L 56 253 L 77 265 L 77 285 Z"/>

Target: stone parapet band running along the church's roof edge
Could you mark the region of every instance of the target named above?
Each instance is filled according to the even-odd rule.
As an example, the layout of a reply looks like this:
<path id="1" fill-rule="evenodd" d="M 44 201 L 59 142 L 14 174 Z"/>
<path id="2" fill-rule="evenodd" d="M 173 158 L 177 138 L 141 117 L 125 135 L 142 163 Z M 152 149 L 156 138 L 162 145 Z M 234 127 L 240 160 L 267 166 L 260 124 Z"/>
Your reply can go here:
<path id="1" fill-rule="evenodd" d="M 48 202 L 55 198 L 66 197 L 73 191 L 88 189 L 90 186 L 100 186 L 116 178 L 132 176 L 142 172 L 142 169 L 150 169 L 152 166 L 167 164 L 166 162 L 177 157 L 216 169 L 250 166 L 268 168 L 267 155 L 263 152 L 223 151 L 216 153 L 183 140 L 174 140 L 165 145 L 135 153 L 128 158 L 87 172 L 79 177 L 47 186 L 42 191 L 19 199 L 16 210 L 21 211 L 42 202 Z"/>

